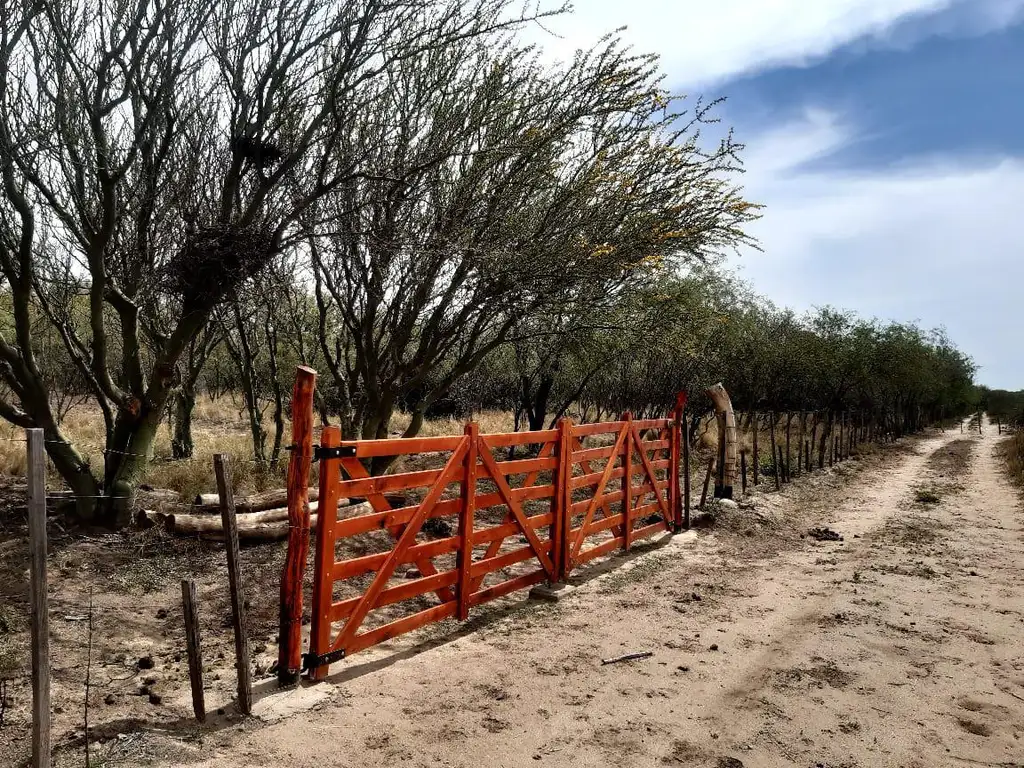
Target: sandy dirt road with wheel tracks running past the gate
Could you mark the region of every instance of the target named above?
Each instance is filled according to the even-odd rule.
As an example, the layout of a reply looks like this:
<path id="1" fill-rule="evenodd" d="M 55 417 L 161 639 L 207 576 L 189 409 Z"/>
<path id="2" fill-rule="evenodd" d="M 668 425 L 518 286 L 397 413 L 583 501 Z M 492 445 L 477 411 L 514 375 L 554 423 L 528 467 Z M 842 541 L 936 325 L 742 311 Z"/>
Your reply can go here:
<path id="1" fill-rule="evenodd" d="M 314 710 L 173 762 L 1024 765 L 1024 512 L 994 432 L 755 497 L 557 605 L 360 654 Z M 824 524 L 843 541 L 799 538 Z"/>

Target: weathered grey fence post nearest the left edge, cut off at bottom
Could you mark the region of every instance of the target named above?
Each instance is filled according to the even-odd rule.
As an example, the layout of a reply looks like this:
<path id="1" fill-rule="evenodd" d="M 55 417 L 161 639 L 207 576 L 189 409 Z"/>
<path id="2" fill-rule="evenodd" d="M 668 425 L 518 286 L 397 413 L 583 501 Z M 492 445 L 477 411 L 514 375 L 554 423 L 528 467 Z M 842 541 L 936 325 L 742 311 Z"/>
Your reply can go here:
<path id="1" fill-rule="evenodd" d="M 28 429 L 26 432 L 29 463 L 29 593 L 32 605 L 32 766 L 49 768 L 50 614 L 46 580 L 46 452 L 42 429 Z"/>

